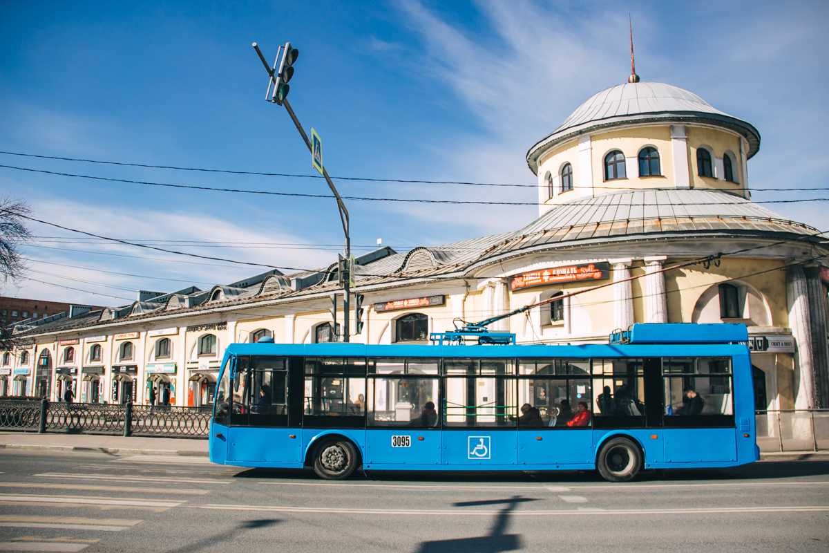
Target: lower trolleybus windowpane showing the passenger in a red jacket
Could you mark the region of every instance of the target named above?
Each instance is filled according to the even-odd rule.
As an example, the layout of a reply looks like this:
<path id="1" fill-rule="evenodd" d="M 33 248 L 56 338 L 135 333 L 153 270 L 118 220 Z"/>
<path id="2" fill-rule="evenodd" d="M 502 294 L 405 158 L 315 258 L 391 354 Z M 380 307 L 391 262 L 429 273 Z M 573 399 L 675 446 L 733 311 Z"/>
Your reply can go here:
<path id="1" fill-rule="evenodd" d="M 519 428 L 582 428 L 592 425 L 589 377 L 518 381 Z"/>

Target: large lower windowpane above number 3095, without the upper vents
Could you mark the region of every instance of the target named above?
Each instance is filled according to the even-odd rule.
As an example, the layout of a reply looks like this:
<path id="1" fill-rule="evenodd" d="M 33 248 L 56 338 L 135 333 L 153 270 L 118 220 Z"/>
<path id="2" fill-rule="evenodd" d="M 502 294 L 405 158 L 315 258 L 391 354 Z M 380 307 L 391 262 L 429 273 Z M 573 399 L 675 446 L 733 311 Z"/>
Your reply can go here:
<path id="1" fill-rule="evenodd" d="M 368 424 L 413 428 L 439 427 L 439 389 L 438 378 L 371 378 L 368 390 Z"/>

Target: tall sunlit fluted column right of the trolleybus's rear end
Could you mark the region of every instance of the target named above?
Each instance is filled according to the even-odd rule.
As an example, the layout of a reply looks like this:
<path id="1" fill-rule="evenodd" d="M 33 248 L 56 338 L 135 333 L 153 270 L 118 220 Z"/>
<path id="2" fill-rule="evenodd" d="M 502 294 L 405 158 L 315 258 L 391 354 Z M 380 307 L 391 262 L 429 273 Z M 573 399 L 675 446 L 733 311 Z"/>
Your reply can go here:
<path id="1" fill-rule="evenodd" d="M 788 326 L 792 328 L 797 349 L 794 354 L 794 408 L 812 409 L 815 405 L 812 383 L 812 322 L 809 318 L 806 275 L 803 274 L 802 265 L 794 265 L 789 268 L 786 276 Z"/>

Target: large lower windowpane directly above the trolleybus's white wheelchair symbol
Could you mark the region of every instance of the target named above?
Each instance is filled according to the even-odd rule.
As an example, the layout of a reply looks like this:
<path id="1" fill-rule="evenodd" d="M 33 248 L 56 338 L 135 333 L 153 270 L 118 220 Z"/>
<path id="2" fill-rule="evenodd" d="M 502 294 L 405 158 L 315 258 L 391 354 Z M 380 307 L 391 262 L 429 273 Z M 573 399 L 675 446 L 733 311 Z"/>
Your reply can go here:
<path id="1" fill-rule="evenodd" d="M 449 377 L 444 403 L 448 427 L 508 428 L 516 425 L 516 381 L 513 378 Z"/>

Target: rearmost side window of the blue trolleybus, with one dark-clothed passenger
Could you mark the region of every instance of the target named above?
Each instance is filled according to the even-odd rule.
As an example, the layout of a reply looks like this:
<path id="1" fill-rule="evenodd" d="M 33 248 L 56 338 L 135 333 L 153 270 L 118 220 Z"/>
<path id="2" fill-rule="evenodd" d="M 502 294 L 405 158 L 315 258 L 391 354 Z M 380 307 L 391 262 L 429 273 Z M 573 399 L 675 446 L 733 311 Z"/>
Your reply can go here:
<path id="1" fill-rule="evenodd" d="M 667 357 L 662 371 L 666 425 L 734 424 L 730 357 Z"/>

